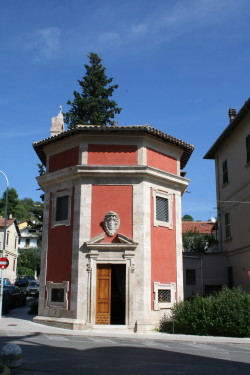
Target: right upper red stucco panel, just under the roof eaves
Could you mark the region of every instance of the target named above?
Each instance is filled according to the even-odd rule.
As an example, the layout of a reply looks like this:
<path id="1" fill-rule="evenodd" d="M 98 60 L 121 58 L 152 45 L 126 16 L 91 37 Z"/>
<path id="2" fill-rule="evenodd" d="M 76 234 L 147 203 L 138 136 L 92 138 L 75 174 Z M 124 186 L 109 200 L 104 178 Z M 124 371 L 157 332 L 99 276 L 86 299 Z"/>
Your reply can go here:
<path id="1" fill-rule="evenodd" d="M 147 148 L 147 165 L 165 172 L 177 174 L 177 159 Z"/>

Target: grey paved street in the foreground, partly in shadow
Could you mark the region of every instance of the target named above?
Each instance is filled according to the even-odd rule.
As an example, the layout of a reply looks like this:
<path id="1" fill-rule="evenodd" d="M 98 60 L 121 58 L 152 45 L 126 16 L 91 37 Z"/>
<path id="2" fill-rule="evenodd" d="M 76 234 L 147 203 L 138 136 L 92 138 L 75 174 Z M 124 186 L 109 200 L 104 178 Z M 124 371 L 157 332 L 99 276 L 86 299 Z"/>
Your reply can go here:
<path id="1" fill-rule="evenodd" d="M 0 326 L 1 348 L 6 343 L 15 343 L 23 351 L 23 364 L 12 370 L 13 375 L 250 373 L 247 339 L 223 343 L 214 338 L 209 342 L 209 338 L 202 341 L 188 336 L 185 341 L 174 341 L 173 335 L 128 335 L 117 330 L 80 335 L 38 324 L 34 326 L 36 331 L 30 332 L 31 326 L 27 324 L 34 323 L 24 313 L 27 314 L 27 308 L 13 310 Z"/>

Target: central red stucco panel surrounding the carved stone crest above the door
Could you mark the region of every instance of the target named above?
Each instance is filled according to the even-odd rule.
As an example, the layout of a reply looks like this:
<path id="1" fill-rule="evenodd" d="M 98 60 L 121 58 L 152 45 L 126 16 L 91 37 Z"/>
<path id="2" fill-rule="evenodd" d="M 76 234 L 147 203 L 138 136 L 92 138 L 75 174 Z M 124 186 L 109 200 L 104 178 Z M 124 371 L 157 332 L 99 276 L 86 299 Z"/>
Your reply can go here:
<path id="1" fill-rule="evenodd" d="M 107 212 L 114 211 L 120 217 L 118 233 L 133 237 L 133 187 L 131 185 L 93 185 L 91 211 L 91 237 L 105 233 L 102 222 Z M 117 242 L 117 233 L 103 242 Z"/>

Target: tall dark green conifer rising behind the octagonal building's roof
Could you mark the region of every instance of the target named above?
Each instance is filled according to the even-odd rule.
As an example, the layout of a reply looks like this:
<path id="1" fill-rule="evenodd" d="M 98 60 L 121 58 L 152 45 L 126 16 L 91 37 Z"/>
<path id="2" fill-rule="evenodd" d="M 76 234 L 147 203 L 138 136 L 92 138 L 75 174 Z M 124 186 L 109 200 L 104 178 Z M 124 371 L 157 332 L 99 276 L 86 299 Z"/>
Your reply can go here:
<path id="1" fill-rule="evenodd" d="M 90 64 L 85 64 L 86 74 L 82 80 L 78 80 L 82 92 L 74 91 L 73 101 L 67 102 L 71 108 L 64 113 L 64 120 L 70 129 L 79 124 L 111 124 L 111 119 L 122 110 L 114 100 L 109 99 L 118 85 L 110 85 L 113 78 L 107 78 L 102 60 L 93 52 L 88 58 Z"/>

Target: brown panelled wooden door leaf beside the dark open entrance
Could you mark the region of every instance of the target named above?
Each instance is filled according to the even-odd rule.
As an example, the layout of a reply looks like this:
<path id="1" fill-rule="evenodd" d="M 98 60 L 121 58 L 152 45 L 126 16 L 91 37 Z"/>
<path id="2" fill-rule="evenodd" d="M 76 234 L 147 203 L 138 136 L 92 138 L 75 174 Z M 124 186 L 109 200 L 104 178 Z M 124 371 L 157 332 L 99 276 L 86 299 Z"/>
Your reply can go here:
<path id="1" fill-rule="evenodd" d="M 96 324 L 110 324 L 111 265 L 100 264 L 96 274 Z"/>

